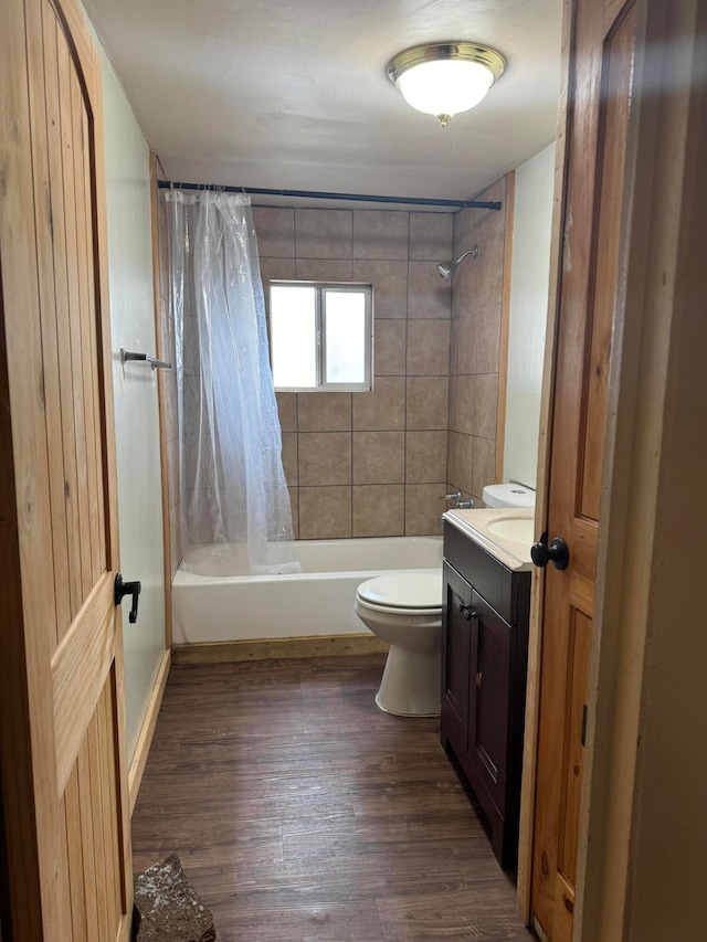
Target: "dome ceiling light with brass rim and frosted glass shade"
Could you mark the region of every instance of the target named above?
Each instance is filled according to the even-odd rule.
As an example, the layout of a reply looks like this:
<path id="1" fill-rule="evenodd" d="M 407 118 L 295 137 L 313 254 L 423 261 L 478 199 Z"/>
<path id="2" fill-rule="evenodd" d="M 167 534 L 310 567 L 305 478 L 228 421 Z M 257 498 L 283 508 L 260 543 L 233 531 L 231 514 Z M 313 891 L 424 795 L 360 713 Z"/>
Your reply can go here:
<path id="1" fill-rule="evenodd" d="M 409 105 L 434 115 L 444 127 L 478 105 L 505 68 L 506 60 L 493 49 L 445 42 L 398 53 L 388 64 L 388 77 Z"/>

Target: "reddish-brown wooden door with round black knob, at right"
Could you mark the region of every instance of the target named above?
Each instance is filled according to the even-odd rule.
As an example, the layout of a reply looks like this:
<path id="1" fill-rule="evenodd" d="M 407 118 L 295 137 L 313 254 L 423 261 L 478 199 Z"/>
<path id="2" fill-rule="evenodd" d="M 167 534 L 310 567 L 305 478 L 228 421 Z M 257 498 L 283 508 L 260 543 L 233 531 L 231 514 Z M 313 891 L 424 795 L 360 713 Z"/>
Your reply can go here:
<path id="1" fill-rule="evenodd" d="M 548 536 L 569 565 L 545 585 L 531 910 L 572 934 L 609 360 L 631 112 L 634 0 L 576 0 L 568 97 Z"/>

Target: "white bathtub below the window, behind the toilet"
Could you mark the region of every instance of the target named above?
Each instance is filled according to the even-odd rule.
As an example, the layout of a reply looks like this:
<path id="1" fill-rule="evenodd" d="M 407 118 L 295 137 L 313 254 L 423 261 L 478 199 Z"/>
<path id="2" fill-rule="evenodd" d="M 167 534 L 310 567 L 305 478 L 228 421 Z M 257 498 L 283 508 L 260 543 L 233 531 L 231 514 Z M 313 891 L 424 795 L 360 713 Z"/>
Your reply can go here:
<path id="1" fill-rule="evenodd" d="M 299 573 L 197 575 L 172 582 L 175 644 L 369 633 L 354 613 L 361 582 L 391 570 L 440 568 L 442 537 L 295 543 Z"/>

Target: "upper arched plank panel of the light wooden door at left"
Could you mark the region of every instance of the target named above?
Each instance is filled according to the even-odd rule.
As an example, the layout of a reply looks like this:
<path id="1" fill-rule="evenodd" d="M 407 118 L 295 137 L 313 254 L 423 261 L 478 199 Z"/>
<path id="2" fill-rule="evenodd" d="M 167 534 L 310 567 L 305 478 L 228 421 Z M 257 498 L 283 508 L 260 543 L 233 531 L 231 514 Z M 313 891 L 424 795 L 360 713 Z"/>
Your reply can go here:
<path id="1" fill-rule="evenodd" d="M 27 13 L 59 642 L 106 568 L 89 102 L 51 3 Z"/>

